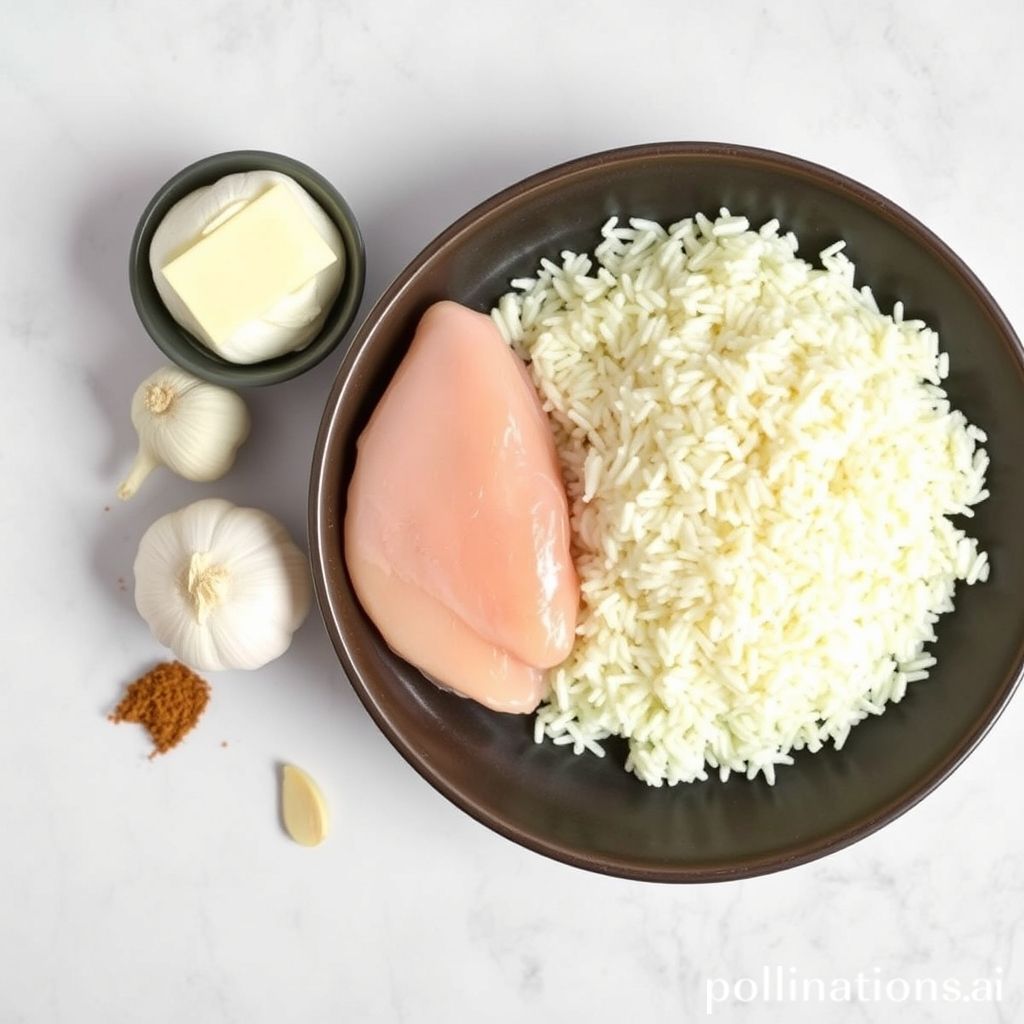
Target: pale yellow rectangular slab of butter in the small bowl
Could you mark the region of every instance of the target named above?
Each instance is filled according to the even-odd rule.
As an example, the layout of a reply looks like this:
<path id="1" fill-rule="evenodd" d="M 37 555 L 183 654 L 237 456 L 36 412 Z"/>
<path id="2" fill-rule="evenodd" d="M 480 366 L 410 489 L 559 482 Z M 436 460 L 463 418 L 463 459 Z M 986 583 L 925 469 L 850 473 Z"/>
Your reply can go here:
<path id="1" fill-rule="evenodd" d="M 258 319 L 338 257 L 286 184 L 275 184 L 163 268 L 214 344 Z"/>

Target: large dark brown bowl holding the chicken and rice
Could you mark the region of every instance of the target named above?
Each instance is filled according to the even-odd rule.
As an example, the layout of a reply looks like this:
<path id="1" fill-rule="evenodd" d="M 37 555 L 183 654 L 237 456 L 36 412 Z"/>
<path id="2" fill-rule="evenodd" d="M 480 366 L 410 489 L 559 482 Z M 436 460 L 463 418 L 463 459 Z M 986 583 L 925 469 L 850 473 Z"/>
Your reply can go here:
<path id="1" fill-rule="evenodd" d="M 860 283 L 883 308 L 937 328 L 953 402 L 988 432 L 992 497 L 971 528 L 991 556 L 988 583 L 963 587 L 939 624 L 938 666 L 843 751 L 798 754 L 763 779 L 675 788 L 603 760 L 532 741 L 532 720 L 442 692 L 392 654 L 352 592 L 342 557 L 355 439 L 436 299 L 486 310 L 542 256 L 586 251 L 610 214 L 673 221 L 720 206 L 755 223 L 777 217 L 805 256 L 846 239 Z M 660 882 L 736 879 L 847 846 L 911 807 L 964 760 L 1017 685 L 1024 637 L 1024 354 L 1006 317 L 931 231 L 833 171 L 759 150 L 637 146 L 545 171 L 466 214 L 428 246 L 374 307 L 327 403 L 313 460 L 309 529 L 321 608 L 372 718 L 432 785 L 503 836 L 558 860 Z"/>

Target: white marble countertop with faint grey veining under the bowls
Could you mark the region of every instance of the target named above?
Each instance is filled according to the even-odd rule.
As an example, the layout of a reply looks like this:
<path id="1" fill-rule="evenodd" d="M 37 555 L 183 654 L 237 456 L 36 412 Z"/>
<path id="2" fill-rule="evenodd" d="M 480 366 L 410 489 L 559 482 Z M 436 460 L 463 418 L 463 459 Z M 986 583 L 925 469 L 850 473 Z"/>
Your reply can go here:
<path id="1" fill-rule="evenodd" d="M 315 613 L 276 664 L 217 676 L 166 758 L 104 717 L 160 654 L 130 594 L 142 529 L 221 494 L 304 536 L 338 364 L 249 395 L 255 430 L 222 484 L 163 474 L 118 505 L 128 399 L 161 362 L 128 243 L 171 173 L 238 147 L 311 163 L 361 221 L 368 308 L 439 229 L 528 173 L 639 141 L 764 145 L 910 210 L 1020 327 L 1019 0 L 0 11 L 2 1024 L 684 1021 L 723 985 L 725 1021 L 1024 1016 L 1020 699 L 882 833 L 781 874 L 679 888 L 545 860 L 447 804 L 372 726 Z M 280 830 L 281 760 L 329 795 L 317 850 Z M 864 985 L 780 1007 L 766 967 L 988 979 L 1001 1000 L 897 1006 Z M 750 1005 L 743 977 L 761 986 Z"/>

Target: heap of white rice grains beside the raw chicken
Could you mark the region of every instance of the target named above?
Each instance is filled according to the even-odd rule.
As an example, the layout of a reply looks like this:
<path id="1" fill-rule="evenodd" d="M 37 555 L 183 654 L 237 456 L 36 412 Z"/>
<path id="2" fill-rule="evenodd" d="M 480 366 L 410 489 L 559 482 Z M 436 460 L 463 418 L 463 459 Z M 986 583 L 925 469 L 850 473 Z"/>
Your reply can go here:
<path id="1" fill-rule="evenodd" d="M 842 242 L 819 269 L 776 221 L 629 223 L 493 313 L 554 425 L 583 588 L 537 738 L 625 736 L 652 785 L 773 782 L 935 665 L 955 582 L 988 577 L 948 518 L 987 497 L 985 435 Z"/>

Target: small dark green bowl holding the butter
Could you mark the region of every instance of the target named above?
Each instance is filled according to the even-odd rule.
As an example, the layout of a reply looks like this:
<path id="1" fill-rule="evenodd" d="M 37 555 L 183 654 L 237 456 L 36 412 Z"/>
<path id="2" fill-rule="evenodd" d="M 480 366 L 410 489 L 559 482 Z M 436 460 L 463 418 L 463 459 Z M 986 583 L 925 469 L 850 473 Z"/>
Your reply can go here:
<path id="1" fill-rule="evenodd" d="M 240 171 L 280 171 L 294 178 L 337 224 L 345 247 L 345 276 L 341 291 L 327 315 L 319 334 L 298 352 L 286 352 L 262 362 L 229 362 L 207 348 L 167 311 L 150 269 L 150 244 L 160 222 L 178 200 L 225 174 Z M 327 178 L 311 167 L 278 153 L 240 150 L 218 153 L 178 171 L 166 182 L 142 211 L 131 243 L 128 279 L 131 297 L 142 326 L 157 346 L 179 367 L 204 380 L 226 387 L 256 387 L 278 384 L 298 377 L 330 355 L 345 336 L 359 308 L 366 282 L 366 255 L 359 225 L 348 204 Z"/>

